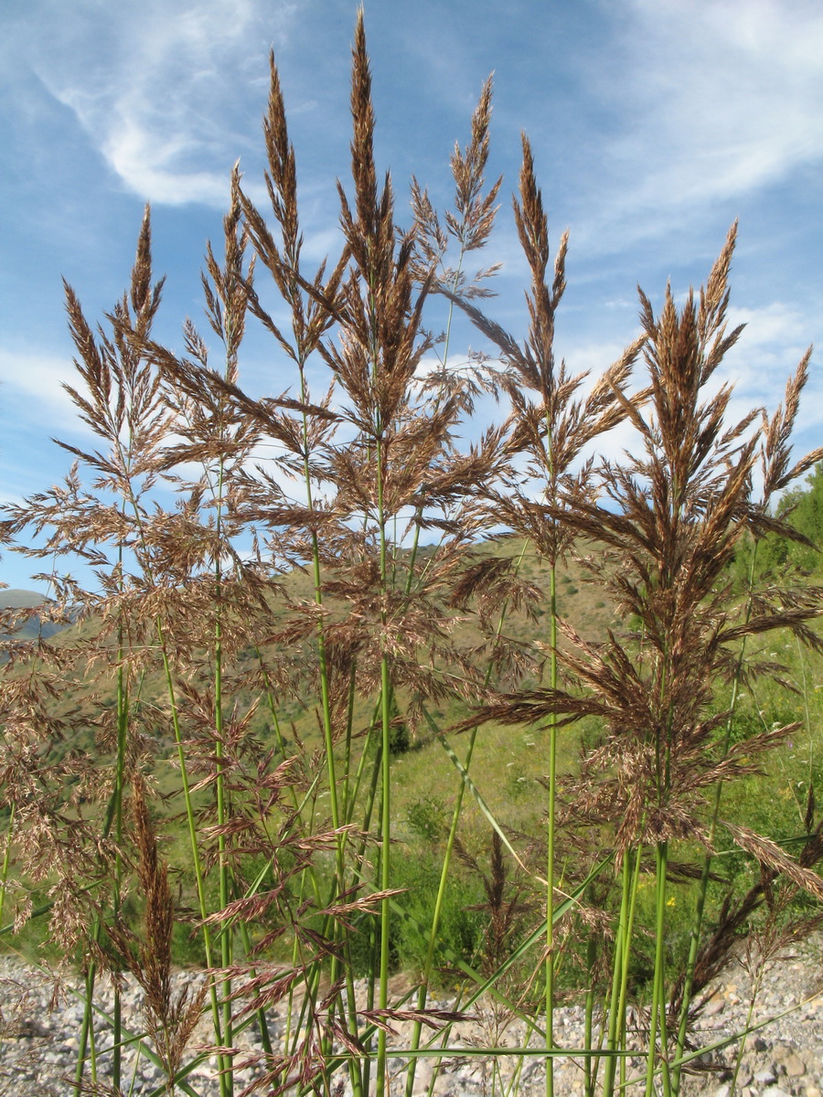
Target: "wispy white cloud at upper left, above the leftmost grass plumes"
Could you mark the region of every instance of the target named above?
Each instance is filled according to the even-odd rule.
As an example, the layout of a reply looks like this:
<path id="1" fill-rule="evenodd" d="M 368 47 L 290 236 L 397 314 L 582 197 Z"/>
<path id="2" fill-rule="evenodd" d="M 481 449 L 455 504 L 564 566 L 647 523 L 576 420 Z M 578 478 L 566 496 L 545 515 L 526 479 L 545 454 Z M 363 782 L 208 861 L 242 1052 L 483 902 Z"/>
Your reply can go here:
<path id="1" fill-rule="evenodd" d="M 128 190 L 222 207 L 233 162 L 257 139 L 271 35 L 282 37 L 295 11 L 261 8 L 255 0 L 87 0 L 64 18 L 54 12 L 33 66 Z M 251 114 L 250 90 L 259 93 Z"/>

